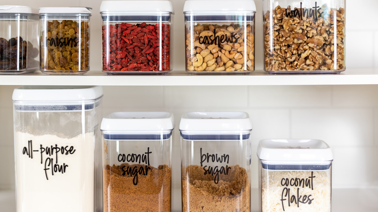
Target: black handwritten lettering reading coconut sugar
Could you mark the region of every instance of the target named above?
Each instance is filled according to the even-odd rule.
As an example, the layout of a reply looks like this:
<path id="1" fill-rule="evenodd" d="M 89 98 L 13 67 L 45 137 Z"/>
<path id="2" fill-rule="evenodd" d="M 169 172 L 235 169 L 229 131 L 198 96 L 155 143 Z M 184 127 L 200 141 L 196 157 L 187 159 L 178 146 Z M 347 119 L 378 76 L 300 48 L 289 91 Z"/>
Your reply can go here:
<path id="1" fill-rule="evenodd" d="M 118 161 L 119 162 L 131 162 L 131 163 L 138 163 L 138 164 L 145 164 L 144 166 L 123 166 L 122 169 L 122 176 L 134 176 L 133 178 L 133 184 L 138 184 L 138 175 L 147 175 L 148 170 L 151 170 L 150 167 L 150 154 L 152 151 L 150 151 L 150 148 L 147 148 L 147 151 L 144 152 L 144 154 L 118 154 Z"/>

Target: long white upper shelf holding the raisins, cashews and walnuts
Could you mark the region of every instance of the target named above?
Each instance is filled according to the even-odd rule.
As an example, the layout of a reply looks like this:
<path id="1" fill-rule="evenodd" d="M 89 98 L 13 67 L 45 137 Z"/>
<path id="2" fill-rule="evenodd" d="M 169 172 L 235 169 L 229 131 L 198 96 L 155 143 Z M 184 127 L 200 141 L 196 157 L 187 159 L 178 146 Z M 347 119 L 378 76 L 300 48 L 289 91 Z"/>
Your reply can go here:
<path id="1" fill-rule="evenodd" d="M 85 75 L 0 75 L 0 85 L 102 85 L 102 86 L 235 86 L 235 85 L 378 85 L 378 69 L 347 69 L 335 75 L 167 75 L 110 76 L 101 71 Z"/>

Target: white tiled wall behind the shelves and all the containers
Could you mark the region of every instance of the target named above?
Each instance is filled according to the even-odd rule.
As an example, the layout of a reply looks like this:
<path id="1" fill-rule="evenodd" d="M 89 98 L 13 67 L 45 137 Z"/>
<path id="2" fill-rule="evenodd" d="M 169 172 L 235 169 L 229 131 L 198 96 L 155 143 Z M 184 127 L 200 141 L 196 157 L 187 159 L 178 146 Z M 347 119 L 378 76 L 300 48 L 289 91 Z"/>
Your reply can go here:
<path id="1" fill-rule="evenodd" d="M 232 2 L 232 0 L 230 0 Z M 101 69 L 101 0 L 2 0 L 3 5 L 92 7 L 91 70 Z M 185 70 L 184 0 L 172 0 L 173 70 Z M 256 70 L 262 74 L 262 0 L 256 0 Z M 378 74 L 376 0 L 347 0 L 347 70 L 371 69 Z M 343 75 L 344 73 L 342 73 Z M 91 75 L 91 71 L 87 73 Z M 1 76 L 0 76 L 1 77 Z M 164 76 L 163 76 L 164 77 Z M 296 76 L 292 76 L 296 78 Z M 48 78 L 46 78 L 48 80 Z M 322 84 L 319 82 L 319 84 Z M 342 83 L 340 83 L 342 84 Z M 12 92 L 20 85 L 0 85 L 0 193 L 15 189 Z M 257 143 L 265 138 L 316 138 L 333 151 L 333 211 L 377 211 L 378 82 L 374 85 L 262 86 L 105 86 L 103 116 L 116 111 L 168 111 L 175 116 L 173 134 L 173 210 L 180 211 L 180 117 L 190 111 L 245 111 L 252 120 L 252 197 L 257 196 Z M 344 206 L 343 191 L 350 193 Z M 363 199 L 363 200 L 362 200 Z M 358 202 L 358 203 L 357 203 Z M 0 203 L 2 204 L 0 196 Z M 252 204 L 256 201 L 252 200 Z M 338 204 L 339 203 L 339 204 Z M 256 206 L 252 206 L 256 210 Z M 0 212 L 2 211 L 0 206 Z"/>

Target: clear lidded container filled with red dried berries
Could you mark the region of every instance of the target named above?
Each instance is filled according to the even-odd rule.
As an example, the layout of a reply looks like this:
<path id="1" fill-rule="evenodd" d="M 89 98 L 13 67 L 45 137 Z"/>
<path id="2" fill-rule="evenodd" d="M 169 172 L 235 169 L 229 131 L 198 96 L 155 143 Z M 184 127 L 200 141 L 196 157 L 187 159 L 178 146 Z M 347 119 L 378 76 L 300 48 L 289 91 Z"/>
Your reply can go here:
<path id="1" fill-rule="evenodd" d="M 168 0 L 102 1 L 102 71 L 166 74 L 172 70 Z"/>

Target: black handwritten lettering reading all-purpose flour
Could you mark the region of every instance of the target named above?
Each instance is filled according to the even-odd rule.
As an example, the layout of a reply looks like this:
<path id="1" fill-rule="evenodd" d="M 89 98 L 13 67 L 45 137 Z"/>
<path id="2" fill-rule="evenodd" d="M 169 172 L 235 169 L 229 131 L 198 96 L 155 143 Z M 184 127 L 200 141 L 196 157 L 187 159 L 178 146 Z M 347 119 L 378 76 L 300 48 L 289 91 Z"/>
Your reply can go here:
<path id="1" fill-rule="evenodd" d="M 54 176 L 56 173 L 64 174 L 67 171 L 68 165 L 63 163 L 59 164 L 58 159 L 60 155 L 72 155 L 75 153 L 75 148 L 73 146 L 58 146 L 58 144 L 43 146 L 40 145 L 39 149 L 33 149 L 33 141 L 28 141 L 28 146 L 22 148 L 22 154 L 27 155 L 30 159 L 34 158 L 33 152 L 40 152 L 41 161 L 40 163 L 44 166 L 46 179 L 48 180 L 49 173 Z M 44 159 L 44 156 L 47 156 Z"/>

